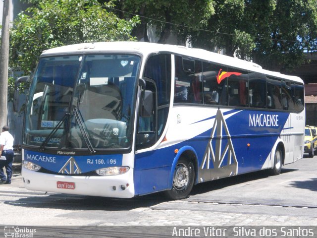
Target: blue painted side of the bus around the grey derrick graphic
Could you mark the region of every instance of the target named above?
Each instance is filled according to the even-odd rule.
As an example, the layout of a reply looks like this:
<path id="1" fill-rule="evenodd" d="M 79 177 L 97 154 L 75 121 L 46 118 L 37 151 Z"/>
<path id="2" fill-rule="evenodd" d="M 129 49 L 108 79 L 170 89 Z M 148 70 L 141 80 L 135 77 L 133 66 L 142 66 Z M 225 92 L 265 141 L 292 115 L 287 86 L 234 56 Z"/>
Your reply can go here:
<path id="1" fill-rule="evenodd" d="M 214 139 L 210 142 L 211 128 L 200 135 L 178 144 L 136 154 L 134 174 L 135 194 L 141 195 L 153 191 L 170 189 L 173 174 L 172 166 L 175 164 L 176 156 L 180 155 L 180 152 L 175 154 L 174 150 L 182 150 L 182 148 L 185 147 L 192 148 L 193 153 L 198 157 L 198 182 L 211 180 L 212 174 L 215 174 L 216 178 L 230 176 L 231 174 L 222 174 L 221 172 L 222 166 L 225 166 L 228 163 L 228 156 L 223 157 L 223 161 L 219 165 L 219 168 L 213 168 L 211 162 L 210 169 L 203 168 L 202 162 L 206 148 L 209 143 L 211 143 L 212 148 L 215 148 L 217 138 L 221 138 L 222 140 L 221 151 L 225 149 L 228 140 L 231 140 L 237 160 L 237 171 L 234 171 L 232 175 L 261 170 L 281 131 L 284 129 L 283 127 L 289 117 L 289 113 L 232 110 L 225 114 L 228 115 L 230 113 L 235 113 L 231 117 L 225 119 L 230 136 L 214 136 Z M 274 126 L 261 126 L 264 125 L 264 122 L 259 121 L 253 122 L 252 125 L 250 120 L 253 119 L 254 115 L 256 115 L 255 118 L 257 116 L 259 116 L 259 118 L 265 116 L 266 119 L 270 116 L 275 116 L 278 120 L 274 122 Z M 216 116 L 213 116 L 208 119 L 215 117 Z M 273 122 L 266 121 L 265 123 L 269 124 Z M 241 132 L 243 132 L 243 134 L 241 134 Z M 250 146 L 248 146 L 248 144 Z M 200 178 L 202 178 L 202 180 L 200 180 Z"/>

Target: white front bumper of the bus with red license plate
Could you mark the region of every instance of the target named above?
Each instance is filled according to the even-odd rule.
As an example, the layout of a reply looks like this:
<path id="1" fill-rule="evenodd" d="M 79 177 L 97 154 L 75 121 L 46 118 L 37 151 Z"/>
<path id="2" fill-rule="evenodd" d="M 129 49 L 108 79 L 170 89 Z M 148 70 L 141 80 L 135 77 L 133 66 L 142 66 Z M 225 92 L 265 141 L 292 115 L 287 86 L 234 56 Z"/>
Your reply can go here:
<path id="1" fill-rule="evenodd" d="M 22 179 L 29 190 L 118 198 L 134 196 L 133 169 L 117 176 L 63 176 L 22 167 Z"/>

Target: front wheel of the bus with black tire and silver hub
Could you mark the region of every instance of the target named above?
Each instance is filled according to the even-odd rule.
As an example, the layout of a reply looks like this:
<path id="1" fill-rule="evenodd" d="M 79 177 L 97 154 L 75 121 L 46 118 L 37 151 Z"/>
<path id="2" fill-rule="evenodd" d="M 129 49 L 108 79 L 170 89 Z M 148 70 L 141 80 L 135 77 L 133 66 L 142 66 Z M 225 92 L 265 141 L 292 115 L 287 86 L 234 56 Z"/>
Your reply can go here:
<path id="1" fill-rule="evenodd" d="M 173 187 L 165 195 L 173 200 L 184 199 L 194 186 L 195 168 L 191 161 L 180 158 L 173 174 Z"/>

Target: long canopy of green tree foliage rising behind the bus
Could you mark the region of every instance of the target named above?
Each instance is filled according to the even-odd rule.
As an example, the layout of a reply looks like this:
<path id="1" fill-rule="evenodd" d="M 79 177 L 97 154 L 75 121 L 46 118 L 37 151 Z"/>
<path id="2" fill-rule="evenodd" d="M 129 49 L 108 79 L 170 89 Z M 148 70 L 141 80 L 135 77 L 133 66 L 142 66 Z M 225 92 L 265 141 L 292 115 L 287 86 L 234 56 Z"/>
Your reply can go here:
<path id="1" fill-rule="evenodd" d="M 159 43 L 173 32 L 178 44 L 189 39 L 193 47 L 224 50 L 277 71 L 303 63 L 304 51 L 317 51 L 316 0 L 24 1 L 33 7 L 14 22 L 10 66 L 26 72 L 45 49 L 89 41 L 148 41 L 149 26 L 155 27 Z"/>

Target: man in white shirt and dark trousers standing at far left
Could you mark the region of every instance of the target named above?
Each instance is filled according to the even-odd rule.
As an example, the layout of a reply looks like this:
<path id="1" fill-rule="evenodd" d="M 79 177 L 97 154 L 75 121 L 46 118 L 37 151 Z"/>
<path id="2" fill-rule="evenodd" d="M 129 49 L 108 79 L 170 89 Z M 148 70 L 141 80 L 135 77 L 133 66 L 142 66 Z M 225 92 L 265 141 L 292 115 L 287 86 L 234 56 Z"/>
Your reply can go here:
<path id="1" fill-rule="evenodd" d="M 10 184 L 12 177 L 13 163 L 13 136 L 9 133 L 9 127 L 2 127 L 0 134 L 0 155 L 5 156 L 5 160 L 0 160 L 0 184 Z M 6 177 L 3 173 L 3 167 L 6 171 Z"/>

